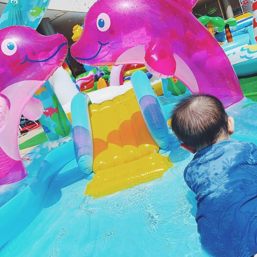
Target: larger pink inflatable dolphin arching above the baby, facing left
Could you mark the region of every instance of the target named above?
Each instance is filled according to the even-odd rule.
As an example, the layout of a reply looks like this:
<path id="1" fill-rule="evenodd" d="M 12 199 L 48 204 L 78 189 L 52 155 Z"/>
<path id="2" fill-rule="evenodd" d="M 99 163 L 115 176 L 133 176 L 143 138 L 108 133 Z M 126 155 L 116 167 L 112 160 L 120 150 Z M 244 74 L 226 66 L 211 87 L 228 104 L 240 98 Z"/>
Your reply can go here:
<path id="1" fill-rule="evenodd" d="M 226 107 L 243 93 L 226 54 L 194 17 L 197 0 L 98 0 L 88 11 L 72 56 L 92 66 L 145 64 L 162 78 L 175 75 L 193 93 Z"/>

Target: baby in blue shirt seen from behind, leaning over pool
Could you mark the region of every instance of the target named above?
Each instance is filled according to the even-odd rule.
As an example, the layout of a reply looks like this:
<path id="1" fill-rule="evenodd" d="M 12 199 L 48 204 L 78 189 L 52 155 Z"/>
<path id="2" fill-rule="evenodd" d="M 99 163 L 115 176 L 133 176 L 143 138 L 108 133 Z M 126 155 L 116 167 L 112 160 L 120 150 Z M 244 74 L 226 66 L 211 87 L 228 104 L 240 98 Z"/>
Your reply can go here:
<path id="1" fill-rule="evenodd" d="M 214 256 L 257 253 L 257 146 L 231 139 L 234 119 L 211 95 L 191 95 L 171 115 L 181 148 L 195 154 L 184 179 L 196 194 L 200 242 Z"/>

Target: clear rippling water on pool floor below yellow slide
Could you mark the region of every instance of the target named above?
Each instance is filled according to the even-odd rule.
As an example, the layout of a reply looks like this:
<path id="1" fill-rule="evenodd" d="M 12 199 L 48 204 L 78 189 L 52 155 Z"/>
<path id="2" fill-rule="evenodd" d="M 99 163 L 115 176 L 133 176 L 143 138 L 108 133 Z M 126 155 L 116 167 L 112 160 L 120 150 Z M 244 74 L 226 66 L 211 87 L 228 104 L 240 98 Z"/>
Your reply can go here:
<path id="1" fill-rule="evenodd" d="M 62 188 L 59 176 L 43 210 L 1 256 L 209 256 L 201 249 L 194 195 L 183 179 L 190 159 L 163 178 L 98 199 L 83 197 L 89 180 L 78 176 Z M 67 170 L 79 174 L 75 161 L 59 175 Z"/>

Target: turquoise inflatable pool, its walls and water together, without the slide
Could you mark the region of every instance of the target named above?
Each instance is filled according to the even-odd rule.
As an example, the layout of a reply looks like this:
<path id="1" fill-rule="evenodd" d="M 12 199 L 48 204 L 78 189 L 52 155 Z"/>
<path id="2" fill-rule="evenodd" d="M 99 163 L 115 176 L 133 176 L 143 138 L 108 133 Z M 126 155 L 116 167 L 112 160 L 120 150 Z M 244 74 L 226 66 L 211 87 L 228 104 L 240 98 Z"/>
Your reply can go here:
<path id="1" fill-rule="evenodd" d="M 233 139 L 257 144 L 256 104 L 247 101 L 228 108 Z M 183 178 L 193 155 L 170 136 L 160 153 L 175 166 L 162 178 L 98 199 L 83 197 L 91 175 L 79 170 L 72 137 L 35 148 L 28 177 L 0 188 L 0 256 L 209 256 Z"/>

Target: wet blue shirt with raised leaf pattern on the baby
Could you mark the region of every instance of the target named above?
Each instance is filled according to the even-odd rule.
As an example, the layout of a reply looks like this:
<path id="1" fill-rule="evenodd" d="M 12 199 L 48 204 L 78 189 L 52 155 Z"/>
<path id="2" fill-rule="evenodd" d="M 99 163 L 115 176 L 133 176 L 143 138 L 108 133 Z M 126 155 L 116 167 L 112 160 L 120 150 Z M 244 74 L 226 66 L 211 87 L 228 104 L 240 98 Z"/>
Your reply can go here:
<path id="1" fill-rule="evenodd" d="M 257 146 L 225 140 L 194 156 L 184 171 L 196 194 L 200 242 L 214 256 L 257 253 Z"/>

